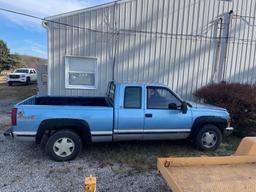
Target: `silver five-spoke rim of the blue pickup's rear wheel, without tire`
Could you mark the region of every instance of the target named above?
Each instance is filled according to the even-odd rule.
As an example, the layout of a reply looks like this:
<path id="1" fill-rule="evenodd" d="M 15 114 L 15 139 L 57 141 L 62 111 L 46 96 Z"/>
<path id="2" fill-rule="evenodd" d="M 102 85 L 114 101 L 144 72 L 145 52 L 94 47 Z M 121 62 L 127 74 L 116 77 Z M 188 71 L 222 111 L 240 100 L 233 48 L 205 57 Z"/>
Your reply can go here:
<path id="1" fill-rule="evenodd" d="M 62 137 L 54 142 L 53 151 L 60 157 L 67 157 L 73 153 L 75 144 L 72 139 Z"/>

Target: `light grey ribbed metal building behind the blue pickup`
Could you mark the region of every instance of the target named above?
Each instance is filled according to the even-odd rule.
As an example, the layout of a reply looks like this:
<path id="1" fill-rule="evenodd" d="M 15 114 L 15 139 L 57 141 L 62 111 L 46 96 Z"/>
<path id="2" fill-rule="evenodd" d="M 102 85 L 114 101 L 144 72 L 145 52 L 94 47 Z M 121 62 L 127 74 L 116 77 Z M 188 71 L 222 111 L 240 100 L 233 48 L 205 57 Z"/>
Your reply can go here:
<path id="1" fill-rule="evenodd" d="M 104 95 L 107 83 L 253 84 L 256 0 L 121 0 L 46 18 L 48 94 Z"/>

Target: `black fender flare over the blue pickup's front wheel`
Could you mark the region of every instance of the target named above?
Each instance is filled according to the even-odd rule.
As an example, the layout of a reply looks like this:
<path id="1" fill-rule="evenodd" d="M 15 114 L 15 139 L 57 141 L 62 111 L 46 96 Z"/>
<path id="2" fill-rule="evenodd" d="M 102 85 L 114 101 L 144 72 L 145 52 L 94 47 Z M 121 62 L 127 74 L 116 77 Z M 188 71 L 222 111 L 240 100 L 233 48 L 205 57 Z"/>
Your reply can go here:
<path id="1" fill-rule="evenodd" d="M 220 129 L 221 133 L 223 134 L 224 129 L 227 127 L 228 121 L 225 118 L 218 117 L 218 116 L 198 117 L 195 119 L 193 123 L 189 138 L 193 139 L 198 133 L 198 131 L 200 130 L 200 128 L 206 124 L 216 125 Z"/>

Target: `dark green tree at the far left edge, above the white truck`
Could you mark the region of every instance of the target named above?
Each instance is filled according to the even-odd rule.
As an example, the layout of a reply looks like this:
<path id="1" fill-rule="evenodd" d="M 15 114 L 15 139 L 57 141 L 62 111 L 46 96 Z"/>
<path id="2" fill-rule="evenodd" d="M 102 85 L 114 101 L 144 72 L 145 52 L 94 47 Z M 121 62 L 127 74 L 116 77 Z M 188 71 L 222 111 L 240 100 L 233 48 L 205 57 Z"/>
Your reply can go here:
<path id="1" fill-rule="evenodd" d="M 5 69 L 10 69 L 10 50 L 8 49 L 6 43 L 0 40 L 0 71 Z"/>

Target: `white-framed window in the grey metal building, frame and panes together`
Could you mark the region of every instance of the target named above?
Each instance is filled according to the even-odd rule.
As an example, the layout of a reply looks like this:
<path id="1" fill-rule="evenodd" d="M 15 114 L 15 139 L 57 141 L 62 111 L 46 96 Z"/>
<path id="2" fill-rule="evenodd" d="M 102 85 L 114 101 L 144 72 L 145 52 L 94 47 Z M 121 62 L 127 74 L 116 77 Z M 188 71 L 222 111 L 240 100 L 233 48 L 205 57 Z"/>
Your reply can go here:
<path id="1" fill-rule="evenodd" d="M 92 57 L 65 57 L 65 87 L 96 89 L 97 59 Z"/>

